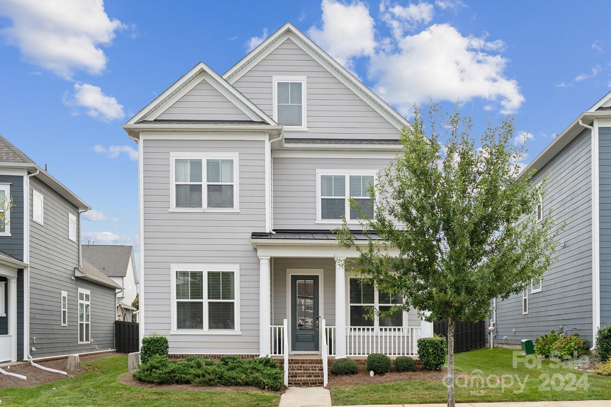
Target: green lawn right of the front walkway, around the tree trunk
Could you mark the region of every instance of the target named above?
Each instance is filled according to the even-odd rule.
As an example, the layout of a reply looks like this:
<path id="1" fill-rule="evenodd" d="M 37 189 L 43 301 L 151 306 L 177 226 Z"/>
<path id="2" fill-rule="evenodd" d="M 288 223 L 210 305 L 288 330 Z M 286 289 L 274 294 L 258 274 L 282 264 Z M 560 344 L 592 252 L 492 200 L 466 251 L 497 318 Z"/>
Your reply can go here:
<path id="1" fill-rule="evenodd" d="M 514 369 L 513 350 L 509 349 L 457 353 L 455 365 L 456 370 L 471 375 L 473 379 L 477 379 L 478 375 L 484 379 L 489 375 L 496 375 L 491 376 L 489 381 L 492 386 L 477 386 L 478 380 L 469 380 L 467 384 L 464 384 L 464 381 L 457 383 L 456 402 L 611 399 L 611 377 L 583 373 L 573 367 L 552 369 L 549 360 L 543 361 L 540 368 L 535 366 L 533 369 L 527 369 L 523 356 L 519 357 Z M 475 371 L 477 369 L 481 372 Z M 495 380 L 503 375 L 507 375 L 502 382 L 504 389 L 499 381 Z M 508 376 L 511 376 L 511 380 Z M 522 391 L 518 379 L 524 385 Z M 513 386 L 510 386 L 512 383 Z M 587 390 L 584 389 L 586 385 Z M 414 380 L 334 387 L 331 389 L 331 397 L 334 405 L 444 403 L 446 388 L 439 381 Z"/>

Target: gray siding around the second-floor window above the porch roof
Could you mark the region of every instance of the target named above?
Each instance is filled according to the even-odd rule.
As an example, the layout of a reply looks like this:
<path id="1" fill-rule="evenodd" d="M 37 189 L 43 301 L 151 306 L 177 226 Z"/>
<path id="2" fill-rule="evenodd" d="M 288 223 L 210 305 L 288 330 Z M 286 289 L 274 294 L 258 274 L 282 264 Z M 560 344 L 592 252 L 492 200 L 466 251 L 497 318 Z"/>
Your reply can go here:
<path id="1" fill-rule="evenodd" d="M 273 158 L 274 229 L 334 229 L 341 223 L 316 223 L 316 170 L 382 170 L 393 159 Z M 351 225 L 359 229 L 359 225 Z"/>

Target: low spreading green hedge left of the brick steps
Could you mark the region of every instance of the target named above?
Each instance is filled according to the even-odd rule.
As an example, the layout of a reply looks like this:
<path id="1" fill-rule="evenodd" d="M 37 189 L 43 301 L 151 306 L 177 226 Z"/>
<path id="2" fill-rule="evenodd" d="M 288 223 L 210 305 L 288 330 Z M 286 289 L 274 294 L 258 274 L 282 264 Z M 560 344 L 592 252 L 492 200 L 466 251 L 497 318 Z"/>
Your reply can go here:
<path id="1" fill-rule="evenodd" d="M 155 384 L 187 384 L 197 386 L 254 386 L 264 390 L 282 389 L 284 373 L 271 358 L 238 359 L 227 364 L 189 356 L 169 360 L 154 355 L 132 373 L 136 380 Z"/>

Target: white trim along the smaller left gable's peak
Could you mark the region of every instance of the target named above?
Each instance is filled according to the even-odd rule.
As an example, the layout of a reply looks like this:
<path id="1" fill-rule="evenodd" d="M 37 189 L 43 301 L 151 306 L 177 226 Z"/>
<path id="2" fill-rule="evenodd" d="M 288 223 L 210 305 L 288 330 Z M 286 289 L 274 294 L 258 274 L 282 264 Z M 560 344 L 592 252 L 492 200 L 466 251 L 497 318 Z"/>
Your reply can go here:
<path id="1" fill-rule="evenodd" d="M 259 109 L 254 103 L 246 99 L 244 95 L 238 92 L 219 74 L 214 72 L 208 65 L 203 62 L 198 63 L 188 73 L 183 75 L 172 86 L 167 88 L 155 100 L 149 103 L 144 109 L 140 110 L 126 124 L 134 124 L 139 120 L 155 120 L 161 113 L 165 112 L 168 107 L 172 106 L 178 99 L 185 96 L 189 90 L 196 87 L 202 79 L 205 79 L 212 87 L 218 90 L 221 95 L 229 99 L 238 109 L 254 121 L 265 121 L 269 124 L 276 124 L 263 110 Z"/>

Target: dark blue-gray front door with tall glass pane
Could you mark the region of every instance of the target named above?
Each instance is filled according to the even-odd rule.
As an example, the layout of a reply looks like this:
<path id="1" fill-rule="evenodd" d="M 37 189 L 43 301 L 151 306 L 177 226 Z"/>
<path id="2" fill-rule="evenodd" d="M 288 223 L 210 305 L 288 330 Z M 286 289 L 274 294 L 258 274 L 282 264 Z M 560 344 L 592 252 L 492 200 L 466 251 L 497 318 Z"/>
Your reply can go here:
<path id="1" fill-rule="evenodd" d="M 291 344 L 318 350 L 318 276 L 291 276 Z"/>

